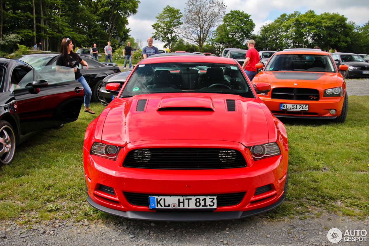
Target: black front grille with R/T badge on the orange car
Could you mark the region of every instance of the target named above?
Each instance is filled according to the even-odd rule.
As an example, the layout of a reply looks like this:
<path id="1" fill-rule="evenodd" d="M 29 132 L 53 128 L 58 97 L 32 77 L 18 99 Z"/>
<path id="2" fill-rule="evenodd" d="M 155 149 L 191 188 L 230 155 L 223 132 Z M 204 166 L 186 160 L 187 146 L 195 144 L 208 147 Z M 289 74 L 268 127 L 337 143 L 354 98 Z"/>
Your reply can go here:
<path id="1" fill-rule="evenodd" d="M 274 88 L 272 99 L 318 101 L 319 90 L 310 88 Z"/>

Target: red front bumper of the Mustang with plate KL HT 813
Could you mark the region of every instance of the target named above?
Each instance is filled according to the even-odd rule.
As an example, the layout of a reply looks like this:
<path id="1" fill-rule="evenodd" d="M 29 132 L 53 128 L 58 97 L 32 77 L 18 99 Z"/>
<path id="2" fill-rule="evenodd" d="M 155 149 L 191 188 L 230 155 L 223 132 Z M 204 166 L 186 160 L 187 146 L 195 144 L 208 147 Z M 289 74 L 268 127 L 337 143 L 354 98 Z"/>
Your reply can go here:
<path id="1" fill-rule="evenodd" d="M 196 141 L 192 141 L 196 142 Z M 217 142 L 217 141 L 214 141 Z M 90 155 L 84 149 L 85 178 L 89 197 L 94 208 L 113 215 L 132 219 L 203 221 L 236 219 L 269 211 L 284 199 L 284 183 L 287 171 L 287 150 L 280 156 L 249 161 L 251 153 L 239 143 L 219 141 L 214 146 L 239 150 L 247 160 L 247 167 L 216 170 L 163 170 L 123 167 L 125 155 L 132 148 L 122 149 L 117 161 Z M 228 143 L 227 143 L 228 142 Z M 144 148 L 141 145 L 140 148 Z M 252 157 L 251 157 L 252 158 Z M 111 187 L 108 194 L 100 185 Z M 255 195 L 256 189 L 270 185 L 271 189 Z M 165 212 L 150 210 L 147 206 L 131 204 L 125 192 L 136 194 L 160 194 L 169 196 L 230 194 L 244 192 L 238 204 L 218 206 L 215 211 Z"/>

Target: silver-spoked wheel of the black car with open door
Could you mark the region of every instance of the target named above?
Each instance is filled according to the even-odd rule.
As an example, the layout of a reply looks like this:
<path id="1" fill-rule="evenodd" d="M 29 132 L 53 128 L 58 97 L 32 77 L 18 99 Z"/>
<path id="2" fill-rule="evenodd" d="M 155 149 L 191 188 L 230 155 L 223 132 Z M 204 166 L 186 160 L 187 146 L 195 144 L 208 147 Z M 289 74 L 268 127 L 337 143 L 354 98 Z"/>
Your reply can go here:
<path id="1" fill-rule="evenodd" d="M 4 120 L 0 120 L 0 148 L 1 163 L 10 163 L 15 154 L 15 134 L 13 127 Z"/>

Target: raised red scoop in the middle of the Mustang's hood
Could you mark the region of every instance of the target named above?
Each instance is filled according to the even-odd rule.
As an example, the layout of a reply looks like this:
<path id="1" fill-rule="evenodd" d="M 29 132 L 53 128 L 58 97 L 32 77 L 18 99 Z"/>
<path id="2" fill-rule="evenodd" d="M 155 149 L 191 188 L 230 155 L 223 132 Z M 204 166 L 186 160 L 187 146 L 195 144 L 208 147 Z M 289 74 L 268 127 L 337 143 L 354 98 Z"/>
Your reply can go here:
<path id="1" fill-rule="evenodd" d="M 156 111 L 164 110 L 215 111 L 215 108 L 213 100 L 208 96 L 165 96 Z"/>

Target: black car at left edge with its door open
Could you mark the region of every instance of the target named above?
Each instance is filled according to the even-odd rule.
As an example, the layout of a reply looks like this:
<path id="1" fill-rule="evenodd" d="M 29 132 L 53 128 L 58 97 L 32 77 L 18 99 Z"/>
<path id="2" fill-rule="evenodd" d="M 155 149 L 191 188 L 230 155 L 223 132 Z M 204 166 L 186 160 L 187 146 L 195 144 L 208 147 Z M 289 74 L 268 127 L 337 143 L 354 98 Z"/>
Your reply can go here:
<path id="1" fill-rule="evenodd" d="M 35 131 L 78 119 L 83 86 L 73 68 L 44 66 L 0 58 L 0 161 L 13 160 L 15 146 Z"/>

